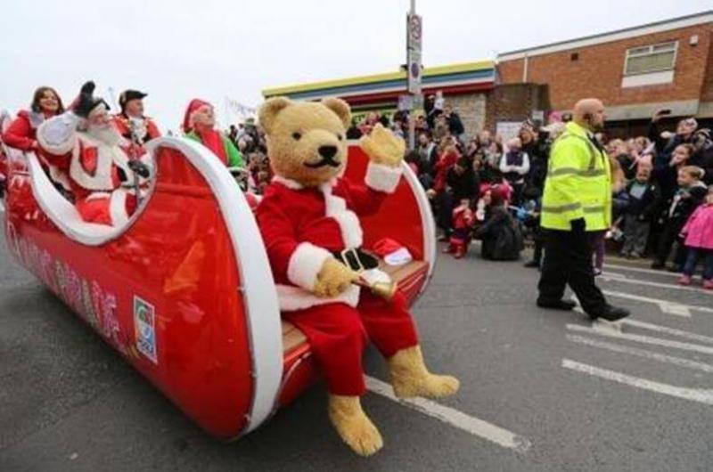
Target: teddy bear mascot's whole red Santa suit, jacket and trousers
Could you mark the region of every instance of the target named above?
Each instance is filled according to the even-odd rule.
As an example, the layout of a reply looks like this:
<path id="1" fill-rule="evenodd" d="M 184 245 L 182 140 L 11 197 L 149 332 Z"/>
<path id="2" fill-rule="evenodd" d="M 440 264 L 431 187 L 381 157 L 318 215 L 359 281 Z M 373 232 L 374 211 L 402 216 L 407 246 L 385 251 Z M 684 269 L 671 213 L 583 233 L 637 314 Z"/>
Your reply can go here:
<path id="1" fill-rule="evenodd" d="M 378 211 L 400 176 L 400 168 L 375 164 L 368 167 L 365 186 L 335 179 L 320 188 L 305 188 L 276 176 L 258 206 L 283 317 L 307 336 L 333 395 L 365 393 L 362 353 L 367 340 L 385 357 L 418 344 L 401 294 L 388 302 L 356 285 L 333 298 L 312 293 L 325 260 L 362 245 L 358 216 Z M 378 269 L 362 277 L 389 280 Z"/>

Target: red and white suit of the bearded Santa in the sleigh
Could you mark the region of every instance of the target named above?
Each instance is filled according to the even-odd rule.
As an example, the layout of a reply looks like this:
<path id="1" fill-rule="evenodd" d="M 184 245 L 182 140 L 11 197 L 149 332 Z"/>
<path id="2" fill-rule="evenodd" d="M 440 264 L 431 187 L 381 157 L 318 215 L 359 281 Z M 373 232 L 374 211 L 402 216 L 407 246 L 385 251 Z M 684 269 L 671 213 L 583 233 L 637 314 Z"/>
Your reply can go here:
<path id="1" fill-rule="evenodd" d="M 54 155 L 70 156 L 70 186 L 83 220 L 96 224 L 127 223 L 136 208 L 134 172 L 128 167 L 129 143 L 104 142 L 76 130 L 76 121 L 63 116 L 47 120 L 37 130 L 40 147 Z M 141 158 L 150 166 L 148 156 Z M 145 187 L 146 180 L 140 180 Z"/>

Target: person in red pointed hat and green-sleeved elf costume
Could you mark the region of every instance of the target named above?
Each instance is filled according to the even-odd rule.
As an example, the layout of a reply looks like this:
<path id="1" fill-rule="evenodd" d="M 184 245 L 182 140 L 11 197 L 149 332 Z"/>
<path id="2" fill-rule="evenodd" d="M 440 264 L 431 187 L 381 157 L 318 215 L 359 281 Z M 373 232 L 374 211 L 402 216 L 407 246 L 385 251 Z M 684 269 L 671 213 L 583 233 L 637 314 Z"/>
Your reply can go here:
<path id="1" fill-rule="evenodd" d="M 217 131 L 213 105 L 200 99 L 188 103 L 184 115 L 185 137 L 201 142 L 227 167 L 244 167 L 242 155 L 227 136 Z"/>

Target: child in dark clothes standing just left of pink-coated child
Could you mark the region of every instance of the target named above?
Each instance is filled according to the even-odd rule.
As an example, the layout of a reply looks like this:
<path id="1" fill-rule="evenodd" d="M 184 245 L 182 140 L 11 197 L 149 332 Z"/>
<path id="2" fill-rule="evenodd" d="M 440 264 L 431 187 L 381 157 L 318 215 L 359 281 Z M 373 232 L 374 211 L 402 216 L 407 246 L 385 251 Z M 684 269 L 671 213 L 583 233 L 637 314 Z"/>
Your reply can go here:
<path id="1" fill-rule="evenodd" d="M 661 269 L 666 265 L 671 248 L 683 230 L 684 224 L 705 197 L 706 186 L 701 182 L 703 174 L 701 167 L 685 166 L 678 169 L 676 180 L 678 188 L 673 197 L 668 199 L 665 212 L 660 217 L 663 232 L 660 235 L 659 247 L 652 268 Z M 680 270 L 680 266 L 684 262 L 683 258 L 683 248 L 679 248 L 676 251 L 675 265 L 672 270 Z"/>

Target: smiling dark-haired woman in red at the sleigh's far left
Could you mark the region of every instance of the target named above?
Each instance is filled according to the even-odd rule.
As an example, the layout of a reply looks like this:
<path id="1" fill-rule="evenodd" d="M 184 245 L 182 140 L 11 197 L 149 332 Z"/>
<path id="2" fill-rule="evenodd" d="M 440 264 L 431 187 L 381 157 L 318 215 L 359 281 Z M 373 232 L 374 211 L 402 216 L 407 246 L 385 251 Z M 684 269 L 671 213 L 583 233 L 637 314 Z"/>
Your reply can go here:
<path id="1" fill-rule="evenodd" d="M 20 110 L 3 133 L 3 142 L 20 151 L 37 151 L 37 127 L 47 118 L 64 113 L 60 95 L 48 86 L 37 88 L 30 110 Z"/>

